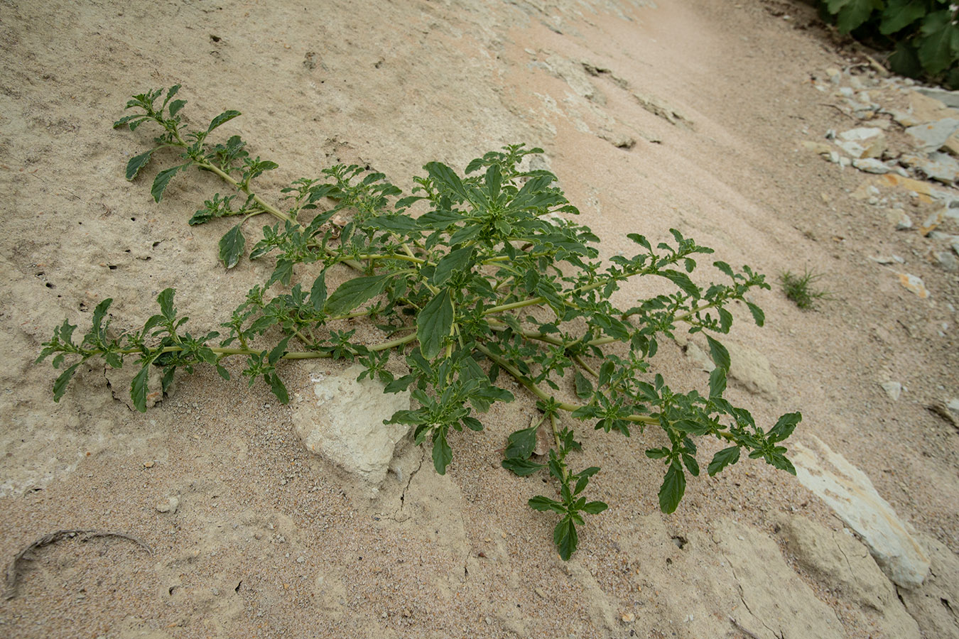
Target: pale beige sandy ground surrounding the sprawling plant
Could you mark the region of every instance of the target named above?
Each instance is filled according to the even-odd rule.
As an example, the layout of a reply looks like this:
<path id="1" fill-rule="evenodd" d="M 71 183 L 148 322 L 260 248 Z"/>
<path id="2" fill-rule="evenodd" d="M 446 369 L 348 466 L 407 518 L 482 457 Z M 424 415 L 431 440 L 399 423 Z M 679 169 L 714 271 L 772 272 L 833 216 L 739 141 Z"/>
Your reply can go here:
<path id="1" fill-rule="evenodd" d="M 564 563 L 550 516 L 526 508 L 540 480 L 499 468 L 497 449 L 532 415 L 528 398 L 457 436 L 446 477 L 428 460 L 411 478 L 390 475 L 373 500 L 304 449 L 290 408 L 243 379 L 181 378 L 140 415 L 113 399 L 103 370 L 87 370 L 54 403 L 52 369 L 33 362 L 64 317 L 83 325 L 112 297 L 114 321 L 137 326 L 175 286 L 203 331 L 264 279 L 256 262 L 220 267 L 222 226 L 187 226 L 221 189 L 212 177 L 175 181 L 160 204 L 147 182 L 123 179 L 148 134 L 111 123 L 130 94 L 175 83 L 197 122 L 243 111 L 224 130 L 280 164 L 261 184 L 268 193 L 338 162 L 409 190 L 427 161 L 462 168 L 523 141 L 546 149 L 606 256 L 629 250 L 626 232 L 666 239 L 676 227 L 771 280 L 815 267 L 829 302 L 804 312 L 774 285 L 755 296 L 765 328 L 740 317 L 730 336 L 766 355 L 778 397 L 735 384 L 729 397 L 762 422 L 802 411 L 797 441 L 821 438 L 919 534 L 959 551 L 957 432 L 926 408 L 959 397 L 959 284 L 928 262 L 922 237 L 853 196 L 866 174 L 799 146 L 854 126 L 810 78 L 864 61 L 805 5 L 82 5 L 0 3 L 0 559 L 66 529 L 122 532 L 152 554 L 120 537 L 38 550 L 0 604 L 0 634 L 757 636 L 729 621 L 736 597 L 695 581 L 725 566 L 711 541 L 719 522 L 780 544 L 784 514 L 843 528 L 793 477 L 748 462 L 690 481 L 680 510 L 662 515 L 662 475 L 643 456 L 657 435 L 584 432 L 583 464 L 603 468 L 594 496 L 611 508 Z M 581 73 L 583 61 L 596 69 L 587 85 L 556 73 L 565 63 Z M 669 108 L 654 114 L 634 93 Z M 917 218 L 934 208 L 901 190 L 883 196 Z M 904 256 L 931 297 L 870 260 L 880 254 Z M 705 386 L 678 346 L 664 351 L 672 383 Z M 307 370 L 283 374 L 308 391 Z M 907 389 L 896 402 L 879 386 L 891 379 Z M 419 451 L 406 455 L 419 468 Z M 159 512 L 171 496 L 175 513 Z M 889 636 L 796 570 L 847 636 Z"/>

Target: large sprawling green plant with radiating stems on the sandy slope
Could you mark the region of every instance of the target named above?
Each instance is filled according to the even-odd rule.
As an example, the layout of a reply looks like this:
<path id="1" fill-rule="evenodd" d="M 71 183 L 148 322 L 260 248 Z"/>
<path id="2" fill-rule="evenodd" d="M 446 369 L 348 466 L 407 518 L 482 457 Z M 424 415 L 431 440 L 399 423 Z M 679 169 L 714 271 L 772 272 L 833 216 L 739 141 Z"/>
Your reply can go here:
<path id="1" fill-rule="evenodd" d="M 801 416 L 784 415 L 763 430 L 747 410 L 723 399 L 730 358 L 712 336 L 706 338 L 716 368 L 708 395 L 677 392 L 663 375 L 650 372 L 658 340 L 680 327 L 728 332 L 733 314 L 727 307 L 734 301 L 744 302 L 762 325 L 762 311 L 744 296 L 769 285 L 748 266 L 737 272 L 713 262 L 726 283 L 696 285 L 688 275 L 696 267 L 693 256 L 713 250 L 675 230 L 672 243 L 655 248 L 643 236 L 629 235 L 637 254 L 603 264 L 590 245 L 596 241 L 590 230 L 558 215 L 578 211 L 554 185 L 555 175 L 520 169 L 526 155 L 542 152 L 522 145 L 474 160 L 466 167 L 468 177 L 431 162 L 426 175 L 413 178 L 413 194 L 399 199 L 400 190 L 383 173 L 336 166 L 322 171 L 320 179 L 294 181 L 283 189 L 285 204 L 278 208 L 252 188 L 252 181 L 276 164 L 251 158 L 239 136 L 208 142 L 239 112 L 226 111 L 209 126 L 188 130 L 180 115 L 185 102 L 175 100 L 178 88 L 165 97 L 163 90 L 134 96 L 127 104 L 134 114 L 115 123 L 130 130 L 149 123 L 161 131 L 150 150 L 129 160 L 127 178 L 135 178 L 164 148 L 177 150 L 181 162 L 154 178 L 156 201 L 171 178 L 190 167 L 217 174 L 233 193 L 206 200 L 190 224 L 231 220 L 220 240 L 220 258 L 231 268 L 246 251 L 246 221 L 275 218 L 249 252 L 253 260 L 271 256 L 275 267 L 222 324 L 223 335 L 186 331 L 173 288 L 160 293 L 159 312 L 138 330 L 110 330 L 109 299 L 94 310 L 92 327 L 79 342 L 73 338 L 77 327 L 64 321 L 37 360 L 53 355 L 55 368 L 69 360 L 54 382 L 54 399 L 63 397 L 91 358 L 113 368 L 136 359 L 140 370 L 130 395 L 140 411 L 146 410 L 151 367 L 162 369 L 165 391 L 177 369 L 192 373 L 206 364 L 228 379 L 222 361 L 246 357 L 243 375 L 249 383 L 262 378 L 286 402 L 281 361 L 354 360 L 365 367 L 360 378 L 379 380 L 386 393 L 411 389 L 414 407 L 387 423 L 409 424 L 417 445 L 429 442 L 433 466 L 443 474 L 453 459 L 451 430 L 480 430 L 479 413 L 513 399 L 497 385 L 507 375 L 536 398 L 542 419 L 509 436 L 503 467 L 521 476 L 545 470 L 557 482 L 558 498 L 537 495 L 529 506 L 559 515 L 553 540 L 563 559 L 576 549 L 582 514 L 606 509 L 582 496 L 599 468 L 571 468 L 571 453 L 580 449 L 578 423 L 626 437 L 647 425 L 662 429 L 663 445 L 649 448 L 646 456 L 666 467 L 659 491 L 664 513 L 682 499 L 687 473 L 699 474 L 697 437 L 727 445 L 713 455 L 710 475 L 735 464 L 743 450 L 795 473 L 782 442 Z M 411 215 L 414 207 L 420 215 Z M 355 269 L 356 276 L 330 292 L 326 273 L 338 264 Z M 674 290 L 630 308 L 613 306 L 610 297 L 621 283 L 646 276 L 666 280 Z M 355 340 L 355 331 L 347 330 L 353 318 L 382 331 L 383 341 Z M 402 358 L 409 373 L 390 373 L 391 357 Z M 546 456 L 534 454 L 540 426 L 551 433 Z"/>

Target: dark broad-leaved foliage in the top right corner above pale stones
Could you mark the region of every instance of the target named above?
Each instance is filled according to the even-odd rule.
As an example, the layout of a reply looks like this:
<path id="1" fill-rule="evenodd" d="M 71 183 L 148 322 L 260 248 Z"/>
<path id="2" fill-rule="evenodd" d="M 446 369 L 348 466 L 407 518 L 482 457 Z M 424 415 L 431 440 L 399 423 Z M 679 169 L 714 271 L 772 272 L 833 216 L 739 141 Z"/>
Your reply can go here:
<path id="1" fill-rule="evenodd" d="M 951 0 L 819 0 L 842 34 L 895 49 L 893 71 L 959 87 L 959 8 Z"/>

